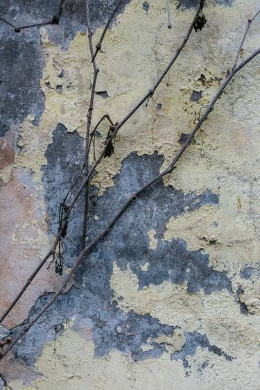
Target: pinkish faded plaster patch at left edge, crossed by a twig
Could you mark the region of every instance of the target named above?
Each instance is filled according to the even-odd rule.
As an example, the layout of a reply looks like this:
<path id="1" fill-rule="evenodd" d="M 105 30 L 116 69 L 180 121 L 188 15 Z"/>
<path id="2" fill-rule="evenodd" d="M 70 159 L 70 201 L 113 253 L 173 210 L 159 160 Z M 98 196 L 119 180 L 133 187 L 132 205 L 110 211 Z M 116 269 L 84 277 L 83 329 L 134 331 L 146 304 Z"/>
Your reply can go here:
<path id="1" fill-rule="evenodd" d="M 40 201 L 42 192 L 35 188 L 32 174 L 25 169 L 13 169 L 9 183 L 0 183 L 0 308 L 1 312 L 15 298 L 28 276 L 40 262 L 41 255 L 48 251 L 44 241 L 46 233 L 44 214 Z M 53 267 L 46 266 L 35 277 L 21 300 L 4 321 L 10 328 L 21 323 L 44 291 L 53 291 L 62 282 Z"/>

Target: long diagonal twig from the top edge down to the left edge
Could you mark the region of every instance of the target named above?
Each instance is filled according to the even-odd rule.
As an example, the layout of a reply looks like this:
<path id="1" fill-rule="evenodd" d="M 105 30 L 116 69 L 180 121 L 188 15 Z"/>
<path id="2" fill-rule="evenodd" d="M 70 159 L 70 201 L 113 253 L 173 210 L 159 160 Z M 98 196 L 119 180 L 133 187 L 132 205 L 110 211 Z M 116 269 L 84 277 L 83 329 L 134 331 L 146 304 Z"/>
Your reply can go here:
<path id="1" fill-rule="evenodd" d="M 155 84 L 153 85 L 153 87 L 150 88 L 150 90 L 148 90 L 148 92 L 144 95 L 144 97 L 135 105 L 134 108 L 132 108 L 132 110 L 130 110 L 130 112 L 128 112 L 127 115 L 125 115 L 125 117 L 121 120 L 121 122 L 119 122 L 119 124 L 117 124 L 116 126 L 114 126 L 114 132 L 112 132 L 111 136 L 109 139 L 107 139 L 107 143 L 108 142 L 112 142 L 112 140 L 114 139 L 114 137 L 116 137 L 116 133 L 118 133 L 119 129 L 123 126 L 123 124 L 125 124 L 125 122 L 128 121 L 128 119 L 130 119 L 130 117 L 132 117 L 132 115 L 135 114 L 135 112 L 141 107 L 141 105 L 144 104 L 144 102 L 150 97 L 150 96 L 153 96 L 155 90 L 157 89 L 158 85 L 162 82 L 162 80 L 164 79 L 164 77 L 166 76 L 166 74 L 168 73 L 169 69 L 171 69 L 171 67 L 173 66 L 175 60 L 177 60 L 177 57 L 179 56 L 179 54 L 181 53 L 182 49 L 184 48 L 185 44 L 187 43 L 187 41 L 189 40 L 189 37 L 191 35 L 191 31 L 193 30 L 193 26 L 195 25 L 196 23 L 196 19 L 200 13 L 200 10 L 202 9 L 202 3 L 203 3 L 203 0 L 200 0 L 200 6 L 198 7 L 198 10 L 196 12 L 196 15 L 195 17 L 193 18 L 193 21 L 191 22 L 191 25 L 189 26 L 189 29 L 187 31 L 187 34 L 185 35 L 184 39 L 182 40 L 182 43 L 180 44 L 180 47 L 175 51 L 175 54 L 173 56 L 173 58 L 171 58 L 170 62 L 168 62 L 168 65 L 166 66 L 166 69 L 164 69 L 164 71 L 162 72 L 161 76 L 159 76 L 159 78 L 157 78 Z M 105 148 L 103 149 L 103 151 L 101 152 L 101 154 L 98 156 L 98 158 L 96 159 L 96 161 L 94 162 L 94 164 L 92 165 L 92 168 L 89 169 L 89 173 L 87 174 L 85 180 L 83 180 L 83 183 L 82 185 L 80 186 L 80 188 L 78 189 L 78 192 L 76 193 L 76 195 L 74 196 L 73 200 L 71 201 L 70 205 L 68 205 L 67 207 L 67 213 L 66 213 L 66 216 L 64 217 L 64 221 L 62 223 L 62 226 L 60 227 L 60 229 L 58 230 L 58 234 L 57 234 L 57 237 L 55 238 L 54 242 L 53 242 L 53 245 L 51 246 L 51 249 L 49 250 L 49 252 L 45 255 L 45 257 L 42 259 L 42 261 L 40 262 L 40 264 L 37 266 L 37 268 L 35 269 L 35 271 L 33 271 L 33 273 L 30 275 L 30 277 L 28 278 L 27 282 L 24 284 L 24 286 L 21 288 L 21 290 L 19 291 L 19 293 L 17 294 L 17 296 L 15 297 L 14 300 L 12 300 L 12 303 L 9 305 L 9 307 L 6 309 L 6 311 L 2 314 L 2 316 L 0 317 L 0 323 L 6 318 L 6 316 L 10 313 L 10 311 L 12 310 L 12 307 L 14 307 L 16 305 L 16 303 L 18 302 L 18 300 L 21 298 L 21 296 L 24 294 L 24 291 L 26 291 L 26 289 L 28 288 L 28 286 L 31 284 L 33 278 L 35 278 L 35 275 L 37 275 L 37 273 L 40 271 L 40 269 L 42 269 L 42 266 L 45 264 L 45 262 L 49 259 L 49 257 L 53 254 L 53 252 L 55 252 L 55 248 L 56 246 L 58 245 L 58 242 L 60 240 L 60 237 L 62 237 L 62 234 L 64 232 L 64 230 L 67 228 L 67 223 L 69 221 L 69 216 L 71 214 L 71 211 L 73 210 L 73 207 L 75 206 L 76 204 L 76 201 L 78 200 L 78 197 L 80 196 L 81 192 L 83 191 L 83 189 L 85 189 L 87 183 L 89 183 L 89 178 L 92 176 L 92 173 L 95 171 L 96 167 L 98 166 L 98 164 L 101 162 L 101 160 L 103 159 L 103 156 L 105 155 L 105 151 L 106 151 L 106 146 L 105 145 Z"/>

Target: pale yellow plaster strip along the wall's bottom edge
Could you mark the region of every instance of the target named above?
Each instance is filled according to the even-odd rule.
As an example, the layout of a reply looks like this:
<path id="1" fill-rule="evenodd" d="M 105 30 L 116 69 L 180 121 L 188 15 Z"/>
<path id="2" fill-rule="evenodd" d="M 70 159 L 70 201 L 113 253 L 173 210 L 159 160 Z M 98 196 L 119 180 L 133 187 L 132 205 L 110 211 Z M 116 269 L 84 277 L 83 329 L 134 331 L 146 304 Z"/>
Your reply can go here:
<path id="1" fill-rule="evenodd" d="M 80 346 L 80 348 L 79 348 Z M 157 359 L 132 362 L 130 356 L 112 351 L 101 358 L 94 357 L 94 343 L 86 341 L 73 330 L 66 330 L 55 341 L 46 343 L 35 368 L 43 378 L 32 386 L 18 380 L 10 383 L 15 390 L 222 390 L 257 389 L 260 385 L 257 360 L 226 362 L 223 357 L 198 348 L 196 356 L 188 356 L 191 364 L 187 376 L 182 361 L 171 360 L 168 354 Z M 260 357 L 260 355 L 258 355 Z M 206 362 L 206 364 L 205 364 Z M 247 369 L 245 370 L 245 364 Z M 203 368 L 203 365 L 205 366 Z M 202 370 L 203 368 L 203 370 Z M 243 372 L 243 375 L 237 373 Z"/>

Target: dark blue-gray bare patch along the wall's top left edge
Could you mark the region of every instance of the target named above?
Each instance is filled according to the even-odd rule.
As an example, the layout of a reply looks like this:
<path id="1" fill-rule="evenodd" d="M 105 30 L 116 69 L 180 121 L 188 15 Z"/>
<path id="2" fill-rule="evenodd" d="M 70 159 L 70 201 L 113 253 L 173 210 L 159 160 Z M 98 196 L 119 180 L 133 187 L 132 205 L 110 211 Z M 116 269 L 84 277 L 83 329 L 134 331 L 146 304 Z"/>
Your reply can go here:
<path id="1" fill-rule="evenodd" d="M 89 10 L 92 22 L 92 31 L 103 26 L 107 22 L 117 0 L 90 0 Z M 123 0 L 116 16 L 123 12 L 130 0 Z M 16 26 L 49 22 L 58 15 L 60 0 L 2 0 L 0 15 L 6 17 Z M 116 17 L 114 17 L 114 21 Z M 15 22 L 14 22 L 15 21 Z M 112 22 L 114 22 L 112 21 Z M 65 0 L 59 24 L 46 26 L 52 42 L 60 44 L 66 49 L 78 31 L 86 32 L 86 1 L 85 0 Z M 9 28 L 10 29 L 10 28 Z M 39 28 L 32 29 L 39 35 Z M 19 33 L 24 37 L 24 31 Z"/>

